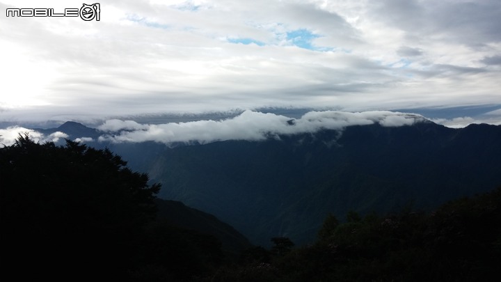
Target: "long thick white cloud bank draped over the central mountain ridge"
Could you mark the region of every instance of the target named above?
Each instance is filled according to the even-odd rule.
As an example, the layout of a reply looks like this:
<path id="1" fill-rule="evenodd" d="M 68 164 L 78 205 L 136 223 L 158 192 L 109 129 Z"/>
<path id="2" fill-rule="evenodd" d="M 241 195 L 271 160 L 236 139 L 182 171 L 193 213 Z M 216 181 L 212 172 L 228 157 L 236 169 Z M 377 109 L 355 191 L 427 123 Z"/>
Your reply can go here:
<path id="1" fill-rule="evenodd" d="M 412 125 L 425 120 L 423 116 L 391 111 L 310 111 L 301 118 L 273 113 L 244 111 L 226 120 L 198 120 L 188 123 L 141 125 L 132 120 L 108 120 L 98 127 L 107 132 L 99 141 L 160 143 L 211 143 L 226 140 L 260 141 L 278 139 L 282 134 L 313 133 L 319 130 L 342 130 L 350 125 L 379 123 L 385 127 Z"/>

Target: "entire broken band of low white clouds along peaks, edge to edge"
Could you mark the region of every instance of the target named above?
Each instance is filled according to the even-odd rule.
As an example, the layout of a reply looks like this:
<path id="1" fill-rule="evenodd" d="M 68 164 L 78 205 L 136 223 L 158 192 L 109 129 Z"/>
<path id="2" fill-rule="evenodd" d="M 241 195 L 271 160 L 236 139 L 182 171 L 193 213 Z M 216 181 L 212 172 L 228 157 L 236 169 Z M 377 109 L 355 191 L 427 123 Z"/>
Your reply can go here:
<path id="1" fill-rule="evenodd" d="M 501 125 L 501 109 L 479 115 L 476 118 L 425 118 L 417 113 L 397 111 L 308 111 L 299 118 L 290 118 L 276 113 L 243 111 L 230 118 L 201 119 L 189 122 L 138 123 L 135 120 L 105 120 L 95 128 L 100 132 L 97 139 L 86 136 L 72 136 L 77 142 L 138 143 L 154 141 L 172 145 L 173 143 L 211 143 L 225 140 L 261 141 L 280 139 L 280 135 L 315 133 L 319 130 L 344 130 L 351 125 L 372 125 L 399 127 L 431 121 L 447 127 L 460 128 L 472 123 Z M 0 129 L 0 143 L 10 146 L 19 135 L 29 134 L 38 142 L 58 142 L 70 136 L 64 132 L 42 134 L 25 127 L 11 126 Z"/>

